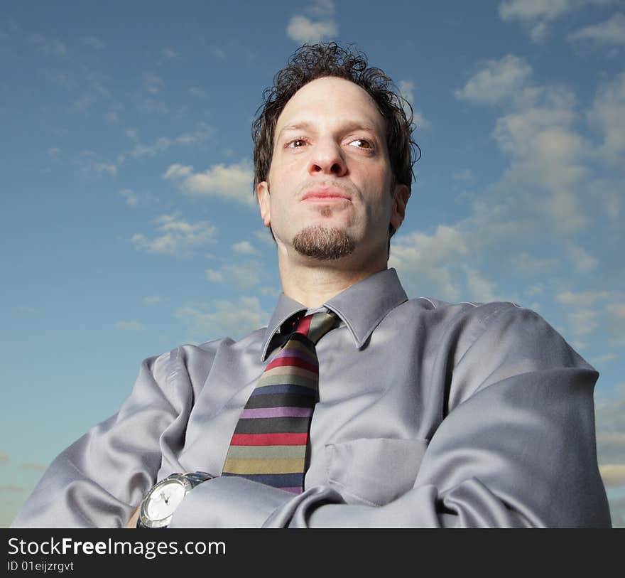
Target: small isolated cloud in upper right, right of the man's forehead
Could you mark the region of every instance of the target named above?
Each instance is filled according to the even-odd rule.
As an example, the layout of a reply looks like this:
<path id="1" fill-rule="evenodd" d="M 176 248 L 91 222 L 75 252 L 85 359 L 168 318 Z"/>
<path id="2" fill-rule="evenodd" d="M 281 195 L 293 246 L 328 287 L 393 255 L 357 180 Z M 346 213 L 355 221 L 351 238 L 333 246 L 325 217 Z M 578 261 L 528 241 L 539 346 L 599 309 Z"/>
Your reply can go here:
<path id="1" fill-rule="evenodd" d="M 489 60 L 486 68 L 475 73 L 455 96 L 480 104 L 497 104 L 518 96 L 531 77 L 532 68 L 525 60 L 506 55 L 501 60 Z"/>

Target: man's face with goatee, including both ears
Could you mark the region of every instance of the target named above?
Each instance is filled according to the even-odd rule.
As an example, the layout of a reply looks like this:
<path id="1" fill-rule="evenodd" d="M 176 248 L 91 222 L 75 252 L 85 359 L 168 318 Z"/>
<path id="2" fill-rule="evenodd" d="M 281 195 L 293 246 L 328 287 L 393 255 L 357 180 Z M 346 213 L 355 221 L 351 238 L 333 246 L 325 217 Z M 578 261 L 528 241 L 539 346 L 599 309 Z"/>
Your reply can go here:
<path id="1" fill-rule="evenodd" d="M 258 196 L 278 249 L 293 258 L 383 259 L 408 188 L 391 194 L 386 124 L 349 80 L 323 77 L 288 101 L 276 123 L 268 181 Z"/>

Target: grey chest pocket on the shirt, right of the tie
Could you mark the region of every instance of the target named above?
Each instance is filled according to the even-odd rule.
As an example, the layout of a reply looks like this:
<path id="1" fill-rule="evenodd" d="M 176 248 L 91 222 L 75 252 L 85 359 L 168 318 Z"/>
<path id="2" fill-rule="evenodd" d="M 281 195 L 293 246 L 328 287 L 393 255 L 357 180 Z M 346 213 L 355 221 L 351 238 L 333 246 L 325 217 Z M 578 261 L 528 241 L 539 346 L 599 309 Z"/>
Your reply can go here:
<path id="1" fill-rule="evenodd" d="M 413 488 L 427 439 L 354 439 L 327 444 L 327 480 L 347 503 L 384 505 Z"/>

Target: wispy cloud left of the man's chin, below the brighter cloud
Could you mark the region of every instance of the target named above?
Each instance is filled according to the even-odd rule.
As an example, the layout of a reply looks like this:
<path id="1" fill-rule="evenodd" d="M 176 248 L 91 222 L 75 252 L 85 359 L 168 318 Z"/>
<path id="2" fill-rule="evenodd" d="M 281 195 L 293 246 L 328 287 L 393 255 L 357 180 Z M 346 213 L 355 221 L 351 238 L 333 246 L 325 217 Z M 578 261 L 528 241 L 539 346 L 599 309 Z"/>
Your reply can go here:
<path id="1" fill-rule="evenodd" d="M 217 228 L 207 221 L 189 223 L 179 215 L 162 215 L 155 220 L 161 235 L 150 240 L 143 233 L 136 233 L 131 242 L 137 250 L 162 255 L 188 255 L 192 249 L 214 240 Z"/>

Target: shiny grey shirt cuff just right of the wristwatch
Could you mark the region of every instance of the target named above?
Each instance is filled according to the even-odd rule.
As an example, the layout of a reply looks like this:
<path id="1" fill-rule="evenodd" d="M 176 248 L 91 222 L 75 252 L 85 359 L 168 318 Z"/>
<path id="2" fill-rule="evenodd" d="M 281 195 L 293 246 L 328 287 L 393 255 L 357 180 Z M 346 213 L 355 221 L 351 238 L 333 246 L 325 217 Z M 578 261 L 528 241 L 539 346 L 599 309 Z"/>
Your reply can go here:
<path id="1" fill-rule="evenodd" d="M 176 508 L 168 528 L 261 528 L 293 494 L 237 476 L 200 483 Z"/>

